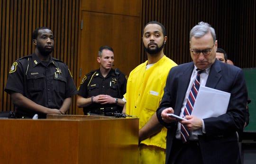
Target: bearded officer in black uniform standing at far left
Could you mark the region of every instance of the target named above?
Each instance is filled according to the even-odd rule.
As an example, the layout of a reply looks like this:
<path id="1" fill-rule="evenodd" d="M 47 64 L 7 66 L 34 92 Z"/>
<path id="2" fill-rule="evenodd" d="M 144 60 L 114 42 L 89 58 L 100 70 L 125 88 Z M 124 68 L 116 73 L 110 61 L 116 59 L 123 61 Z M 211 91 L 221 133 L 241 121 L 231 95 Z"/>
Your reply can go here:
<path id="1" fill-rule="evenodd" d="M 5 91 L 11 95 L 18 118 L 46 118 L 64 114 L 71 97 L 78 93 L 67 65 L 50 56 L 54 35 L 47 27 L 32 34 L 35 53 L 16 60 L 10 70 Z"/>

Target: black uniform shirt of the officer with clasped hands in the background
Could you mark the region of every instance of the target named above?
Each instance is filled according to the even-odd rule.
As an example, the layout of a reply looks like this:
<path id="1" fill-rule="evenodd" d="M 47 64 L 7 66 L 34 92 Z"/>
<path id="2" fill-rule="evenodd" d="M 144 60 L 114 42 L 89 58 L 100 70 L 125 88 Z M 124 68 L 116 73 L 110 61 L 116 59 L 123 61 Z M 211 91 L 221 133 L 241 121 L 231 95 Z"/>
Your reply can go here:
<path id="1" fill-rule="evenodd" d="M 88 98 L 97 95 L 110 95 L 115 98 L 123 98 L 126 93 L 127 78 L 124 73 L 119 72 L 117 75 L 114 69 L 111 69 L 109 74 L 104 78 L 101 75 L 100 69 L 96 69 L 85 75 L 78 89 L 78 95 Z M 122 107 L 117 104 L 97 104 L 93 103 L 83 108 L 85 111 L 91 111 L 92 109 L 100 109 L 106 107 L 118 107 L 119 112 L 122 111 Z M 92 112 L 93 113 L 93 112 Z"/>

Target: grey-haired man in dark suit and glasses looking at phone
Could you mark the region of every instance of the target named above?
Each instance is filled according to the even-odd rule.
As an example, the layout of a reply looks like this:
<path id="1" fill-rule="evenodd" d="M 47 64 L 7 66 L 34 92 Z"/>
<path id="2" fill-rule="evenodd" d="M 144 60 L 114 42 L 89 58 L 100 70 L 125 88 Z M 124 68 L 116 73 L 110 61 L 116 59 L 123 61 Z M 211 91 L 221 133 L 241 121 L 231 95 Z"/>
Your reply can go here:
<path id="1" fill-rule="evenodd" d="M 208 23 L 200 22 L 190 32 L 193 62 L 176 66 L 169 72 L 165 94 L 156 111 L 158 121 L 168 129 L 166 164 L 241 163 L 237 131 L 244 126 L 247 86 L 242 69 L 216 60 L 216 50 L 215 30 Z M 202 70 L 198 81 L 200 86 L 230 93 L 225 114 L 199 119 L 184 113 L 198 76 L 197 69 Z M 178 121 L 167 113 L 174 113 L 187 121 Z M 188 132 L 186 139 L 184 129 Z"/>

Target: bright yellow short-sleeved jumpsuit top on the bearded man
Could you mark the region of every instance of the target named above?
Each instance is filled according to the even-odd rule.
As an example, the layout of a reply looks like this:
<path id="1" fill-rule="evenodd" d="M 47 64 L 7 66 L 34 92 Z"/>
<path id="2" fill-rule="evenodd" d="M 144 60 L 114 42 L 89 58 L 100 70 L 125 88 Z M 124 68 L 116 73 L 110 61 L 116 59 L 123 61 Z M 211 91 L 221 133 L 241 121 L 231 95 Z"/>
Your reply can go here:
<path id="1" fill-rule="evenodd" d="M 177 64 L 164 56 L 152 67 L 146 70 L 147 61 L 137 66 L 130 72 L 127 82 L 126 113 L 139 118 L 141 129 L 151 116 L 156 112 L 162 97 L 166 78 L 170 69 Z M 145 145 L 166 148 L 166 132 L 163 128 L 159 133 L 141 141 Z"/>

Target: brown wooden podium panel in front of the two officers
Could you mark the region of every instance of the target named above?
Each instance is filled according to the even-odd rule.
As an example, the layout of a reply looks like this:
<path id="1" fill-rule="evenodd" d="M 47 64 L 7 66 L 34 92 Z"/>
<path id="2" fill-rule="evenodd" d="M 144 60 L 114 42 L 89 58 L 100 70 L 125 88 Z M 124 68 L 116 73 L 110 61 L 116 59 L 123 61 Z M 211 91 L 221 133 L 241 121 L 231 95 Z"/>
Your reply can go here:
<path id="1" fill-rule="evenodd" d="M 135 118 L 50 116 L 0 122 L 1 164 L 137 164 Z"/>

